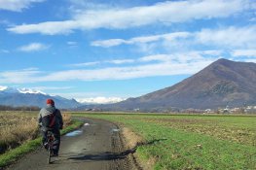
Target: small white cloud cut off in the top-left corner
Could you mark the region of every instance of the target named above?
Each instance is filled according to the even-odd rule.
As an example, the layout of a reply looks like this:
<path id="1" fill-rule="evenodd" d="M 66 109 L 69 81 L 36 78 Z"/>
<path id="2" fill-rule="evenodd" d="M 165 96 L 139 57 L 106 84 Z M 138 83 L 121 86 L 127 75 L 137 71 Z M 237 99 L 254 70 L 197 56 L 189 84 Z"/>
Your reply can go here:
<path id="1" fill-rule="evenodd" d="M 0 0 L 0 10 L 8 10 L 13 12 L 21 12 L 27 9 L 32 3 L 40 3 L 45 0 Z"/>

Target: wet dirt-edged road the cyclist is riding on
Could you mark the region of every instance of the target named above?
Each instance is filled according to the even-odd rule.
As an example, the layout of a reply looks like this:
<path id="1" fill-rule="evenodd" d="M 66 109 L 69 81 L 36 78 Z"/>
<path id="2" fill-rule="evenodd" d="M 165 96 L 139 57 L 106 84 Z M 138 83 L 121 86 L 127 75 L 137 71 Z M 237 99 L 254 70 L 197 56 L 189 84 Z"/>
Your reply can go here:
<path id="1" fill-rule="evenodd" d="M 84 119 L 77 134 L 61 138 L 59 156 L 47 163 L 47 153 L 38 149 L 11 165 L 9 170 L 132 170 L 137 169 L 124 151 L 118 126 L 97 119 Z"/>

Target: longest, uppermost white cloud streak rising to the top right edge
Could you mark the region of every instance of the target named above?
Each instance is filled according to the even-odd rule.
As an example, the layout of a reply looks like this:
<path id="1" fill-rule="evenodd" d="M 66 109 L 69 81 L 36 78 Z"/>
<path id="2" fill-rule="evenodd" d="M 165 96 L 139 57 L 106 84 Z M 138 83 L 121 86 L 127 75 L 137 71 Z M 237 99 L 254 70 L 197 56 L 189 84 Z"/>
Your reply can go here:
<path id="1" fill-rule="evenodd" d="M 124 29 L 155 23 L 170 24 L 192 19 L 229 17 L 249 8 L 251 8 L 250 1 L 243 0 L 166 1 L 152 6 L 127 9 L 86 10 L 75 13 L 75 16 L 68 20 L 21 24 L 8 28 L 8 31 L 18 34 L 55 35 L 69 34 L 76 29 Z"/>

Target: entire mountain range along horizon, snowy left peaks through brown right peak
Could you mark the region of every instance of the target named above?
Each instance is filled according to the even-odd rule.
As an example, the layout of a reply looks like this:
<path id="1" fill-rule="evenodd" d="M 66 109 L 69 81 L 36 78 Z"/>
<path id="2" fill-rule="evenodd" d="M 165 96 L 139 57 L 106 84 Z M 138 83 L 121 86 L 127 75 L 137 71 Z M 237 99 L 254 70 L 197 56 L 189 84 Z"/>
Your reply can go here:
<path id="1" fill-rule="evenodd" d="M 42 91 L 0 86 L 0 105 L 43 107 L 47 98 L 53 98 L 57 108 L 78 110 L 173 111 L 256 105 L 256 63 L 219 59 L 176 85 L 107 105 L 84 105 Z"/>

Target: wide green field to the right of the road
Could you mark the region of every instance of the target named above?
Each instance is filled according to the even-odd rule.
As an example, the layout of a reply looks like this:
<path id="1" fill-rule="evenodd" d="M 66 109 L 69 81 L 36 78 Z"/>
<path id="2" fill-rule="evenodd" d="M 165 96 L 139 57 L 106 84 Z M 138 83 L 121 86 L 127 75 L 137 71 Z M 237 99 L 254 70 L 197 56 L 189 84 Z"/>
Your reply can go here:
<path id="1" fill-rule="evenodd" d="M 153 169 L 256 169 L 256 117 L 74 114 L 121 123 L 147 143 L 137 148 Z"/>

